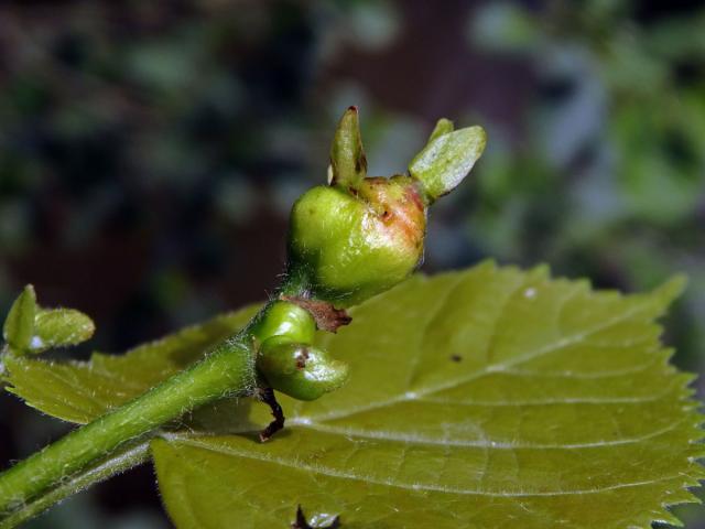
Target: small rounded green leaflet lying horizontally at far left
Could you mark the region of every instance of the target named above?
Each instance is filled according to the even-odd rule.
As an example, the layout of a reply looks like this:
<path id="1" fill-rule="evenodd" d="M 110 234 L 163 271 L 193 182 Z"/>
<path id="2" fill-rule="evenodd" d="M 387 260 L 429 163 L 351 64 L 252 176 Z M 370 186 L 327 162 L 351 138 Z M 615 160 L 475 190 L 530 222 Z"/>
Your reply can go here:
<path id="1" fill-rule="evenodd" d="M 86 342 L 95 333 L 93 320 L 74 309 L 40 309 L 34 316 L 31 353 L 67 347 Z"/>

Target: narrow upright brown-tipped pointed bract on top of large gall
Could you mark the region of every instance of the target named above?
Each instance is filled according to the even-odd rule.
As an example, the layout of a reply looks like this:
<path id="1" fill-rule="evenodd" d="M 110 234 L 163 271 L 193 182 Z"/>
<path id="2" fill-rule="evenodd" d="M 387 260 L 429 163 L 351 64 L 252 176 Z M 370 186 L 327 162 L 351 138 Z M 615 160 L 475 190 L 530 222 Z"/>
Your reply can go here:
<path id="1" fill-rule="evenodd" d="M 367 176 L 367 158 L 360 137 L 357 107 L 348 108 L 338 123 L 330 147 L 330 184 L 357 188 Z"/>

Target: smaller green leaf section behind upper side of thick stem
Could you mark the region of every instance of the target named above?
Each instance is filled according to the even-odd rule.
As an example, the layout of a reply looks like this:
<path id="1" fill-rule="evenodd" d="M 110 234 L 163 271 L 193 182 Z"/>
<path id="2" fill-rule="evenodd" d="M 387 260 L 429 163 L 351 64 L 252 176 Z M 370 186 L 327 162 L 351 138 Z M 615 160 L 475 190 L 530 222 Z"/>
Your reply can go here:
<path id="1" fill-rule="evenodd" d="M 240 330 L 257 309 L 224 314 L 121 356 L 95 353 L 85 363 L 7 357 L 7 389 L 44 413 L 83 424 L 200 358 Z"/>

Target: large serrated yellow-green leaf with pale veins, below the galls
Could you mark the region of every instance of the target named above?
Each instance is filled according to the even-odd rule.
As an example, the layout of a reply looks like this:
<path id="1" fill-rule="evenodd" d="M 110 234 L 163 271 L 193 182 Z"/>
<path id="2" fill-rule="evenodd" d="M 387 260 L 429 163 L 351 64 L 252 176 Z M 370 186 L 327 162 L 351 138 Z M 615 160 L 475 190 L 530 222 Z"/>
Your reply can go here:
<path id="1" fill-rule="evenodd" d="M 284 398 L 283 434 L 154 441 L 165 506 L 182 528 L 286 527 L 299 504 L 343 527 L 676 522 L 664 506 L 705 476 L 702 415 L 653 319 L 682 285 L 622 296 L 490 263 L 416 277 L 321 338 L 349 384 Z"/>

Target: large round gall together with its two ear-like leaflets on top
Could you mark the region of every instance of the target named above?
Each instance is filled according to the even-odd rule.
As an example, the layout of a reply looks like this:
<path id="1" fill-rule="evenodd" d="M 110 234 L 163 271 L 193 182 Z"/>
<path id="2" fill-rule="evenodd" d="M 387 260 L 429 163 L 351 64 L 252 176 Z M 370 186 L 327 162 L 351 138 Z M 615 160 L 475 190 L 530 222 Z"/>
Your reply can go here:
<path id="1" fill-rule="evenodd" d="M 328 185 L 292 208 L 289 283 L 345 307 L 406 279 L 423 260 L 429 206 L 460 183 L 485 142 L 480 127 L 454 131 L 442 119 L 409 174 L 369 177 L 358 111 L 348 108 L 330 149 Z"/>

